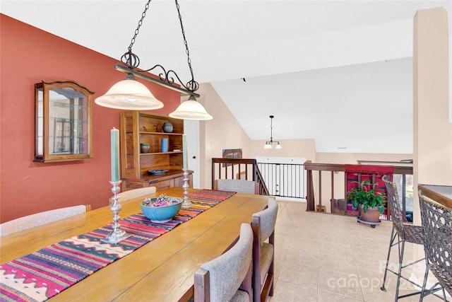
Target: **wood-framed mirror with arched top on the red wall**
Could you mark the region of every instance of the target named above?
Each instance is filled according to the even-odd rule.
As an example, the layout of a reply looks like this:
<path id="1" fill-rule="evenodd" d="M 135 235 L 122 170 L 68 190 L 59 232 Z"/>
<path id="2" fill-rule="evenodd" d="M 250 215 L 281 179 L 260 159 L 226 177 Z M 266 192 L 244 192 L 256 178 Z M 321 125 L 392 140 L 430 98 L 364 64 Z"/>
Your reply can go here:
<path id="1" fill-rule="evenodd" d="M 35 160 L 91 158 L 93 92 L 74 81 L 35 84 Z"/>

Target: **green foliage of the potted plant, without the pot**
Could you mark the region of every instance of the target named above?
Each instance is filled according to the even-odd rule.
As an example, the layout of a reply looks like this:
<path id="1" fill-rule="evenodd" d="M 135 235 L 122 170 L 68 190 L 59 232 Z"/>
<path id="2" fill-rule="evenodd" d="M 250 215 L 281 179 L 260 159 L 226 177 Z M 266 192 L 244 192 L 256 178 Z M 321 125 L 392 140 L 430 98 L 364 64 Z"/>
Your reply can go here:
<path id="1" fill-rule="evenodd" d="M 384 204 L 386 203 L 386 194 L 377 187 L 378 182 L 371 185 L 370 180 L 363 180 L 357 183 L 357 187 L 352 188 L 347 193 L 347 199 L 352 201 L 353 209 L 362 206 L 364 213 L 369 208 L 378 208 L 380 214 L 383 214 Z"/>

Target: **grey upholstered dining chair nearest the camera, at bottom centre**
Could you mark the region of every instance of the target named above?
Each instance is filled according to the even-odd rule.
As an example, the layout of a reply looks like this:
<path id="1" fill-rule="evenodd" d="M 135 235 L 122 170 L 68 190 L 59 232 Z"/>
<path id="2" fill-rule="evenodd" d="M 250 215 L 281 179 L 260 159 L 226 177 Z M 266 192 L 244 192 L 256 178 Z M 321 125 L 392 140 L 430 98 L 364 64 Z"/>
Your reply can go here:
<path id="1" fill-rule="evenodd" d="M 230 250 L 204 263 L 195 273 L 194 302 L 250 302 L 253 231 L 240 226 L 240 237 Z M 242 284 L 242 289 L 239 289 Z"/>

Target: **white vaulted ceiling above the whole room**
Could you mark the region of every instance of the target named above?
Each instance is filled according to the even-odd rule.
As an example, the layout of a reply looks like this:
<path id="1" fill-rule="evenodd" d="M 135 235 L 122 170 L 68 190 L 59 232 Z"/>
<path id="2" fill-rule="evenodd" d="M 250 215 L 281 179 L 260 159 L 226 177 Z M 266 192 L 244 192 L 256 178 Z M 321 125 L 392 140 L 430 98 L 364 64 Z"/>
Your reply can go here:
<path id="1" fill-rule="evenodd" d="M 119 59 L 145 4 L 2 0 L 0 8 Z M 179 5 L 195 80 L 212 83 L 250 139 L 269 139 L 275 115 L 275 139 L 315 139 L 319 152 L 412 153 L 413 17 L 443 6 L 451 23 L 451 0 Z M 133 52 L 141 68 L 162 64 L 189 81 L 174 1 L 150 2 Z"/>

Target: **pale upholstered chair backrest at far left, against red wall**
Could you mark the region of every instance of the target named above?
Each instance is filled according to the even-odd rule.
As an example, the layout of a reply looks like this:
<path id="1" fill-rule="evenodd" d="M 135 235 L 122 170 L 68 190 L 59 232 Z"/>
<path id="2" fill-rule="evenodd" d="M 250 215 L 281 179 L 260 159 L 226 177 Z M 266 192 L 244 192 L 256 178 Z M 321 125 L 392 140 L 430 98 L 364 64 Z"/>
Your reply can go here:
<path id="1" fill-rule="evenodd" d="M 90 211 L 90 204 L 43 211 L 0 224 L 0 237 Z"/>

